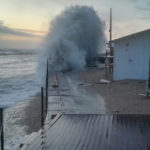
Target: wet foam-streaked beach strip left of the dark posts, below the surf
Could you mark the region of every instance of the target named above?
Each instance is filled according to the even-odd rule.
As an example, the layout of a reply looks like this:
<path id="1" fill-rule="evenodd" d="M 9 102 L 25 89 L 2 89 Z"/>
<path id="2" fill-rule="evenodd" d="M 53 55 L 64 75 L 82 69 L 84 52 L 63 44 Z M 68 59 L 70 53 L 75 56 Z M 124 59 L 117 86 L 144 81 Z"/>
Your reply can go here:
<path id="1" fill-rule="evenodd" d="M 15 150 L 26 135 L 41 127 L 40 94 L 7 108 L 4 112 L 4 136 L 6 150 Z"/>

